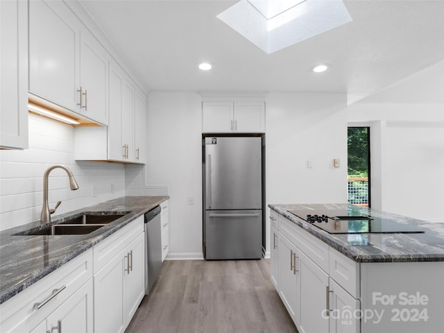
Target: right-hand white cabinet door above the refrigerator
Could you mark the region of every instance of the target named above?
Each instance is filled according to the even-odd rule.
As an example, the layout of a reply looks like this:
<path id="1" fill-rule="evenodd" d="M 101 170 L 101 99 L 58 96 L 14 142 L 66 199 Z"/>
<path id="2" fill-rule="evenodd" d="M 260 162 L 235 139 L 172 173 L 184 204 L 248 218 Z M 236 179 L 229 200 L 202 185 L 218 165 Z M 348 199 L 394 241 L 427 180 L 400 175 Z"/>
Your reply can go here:
<path id="1" fill-rule="evenodd" d="M 264 133 L 264 102 L 234 102 L 234 131 Z"/>

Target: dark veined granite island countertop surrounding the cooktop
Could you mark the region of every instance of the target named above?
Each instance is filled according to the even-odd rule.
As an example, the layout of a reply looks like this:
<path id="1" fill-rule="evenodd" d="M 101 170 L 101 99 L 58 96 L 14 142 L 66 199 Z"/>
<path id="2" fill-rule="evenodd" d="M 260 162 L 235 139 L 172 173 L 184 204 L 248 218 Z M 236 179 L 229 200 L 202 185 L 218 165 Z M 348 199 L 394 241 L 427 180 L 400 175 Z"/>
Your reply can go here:
<path id="1" fill-rule="evenodd" d="M 268 205 L 300 228 L 338 250 L 355 262 L 444 262 L 444 223 L 432 223 L 398 214 L 350 205 L 352 210 L 372 217 L 389 219 L 424 230 L 423 233 L 330 234 L 298 218 L 289 210 L 316 212 L 347 210 L 347 204 Z"/>

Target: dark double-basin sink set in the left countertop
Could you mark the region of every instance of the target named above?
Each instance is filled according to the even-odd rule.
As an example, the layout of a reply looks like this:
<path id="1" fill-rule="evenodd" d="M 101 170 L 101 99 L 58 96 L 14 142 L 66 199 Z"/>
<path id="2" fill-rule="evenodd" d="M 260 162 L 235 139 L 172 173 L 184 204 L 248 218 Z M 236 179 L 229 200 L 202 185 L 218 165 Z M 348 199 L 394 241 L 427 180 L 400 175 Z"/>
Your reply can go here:
<path id="1" fill-rule="evenodd" d="M 76 214 L 65 219 L 65 221 L 17 232 L 17 234 L 13 234 L 13 236 L 89 234 L 128 213 L 129 212 L 119 212 L 110 214 L 110 212 L 88 212 Z"/>

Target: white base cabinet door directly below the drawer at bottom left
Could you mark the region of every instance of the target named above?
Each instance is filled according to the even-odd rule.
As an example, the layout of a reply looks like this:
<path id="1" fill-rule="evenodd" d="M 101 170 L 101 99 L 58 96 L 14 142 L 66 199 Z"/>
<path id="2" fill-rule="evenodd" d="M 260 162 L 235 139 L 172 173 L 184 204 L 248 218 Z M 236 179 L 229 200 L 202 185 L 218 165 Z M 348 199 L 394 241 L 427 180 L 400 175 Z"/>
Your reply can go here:
<path id="1" fill-rule="evenodd" d="M 63 333 L 93 332 L 92 279 L 83 284 L 70 298 L 46 319 L 48 330 L 55 330 L 60 321 Z"/>

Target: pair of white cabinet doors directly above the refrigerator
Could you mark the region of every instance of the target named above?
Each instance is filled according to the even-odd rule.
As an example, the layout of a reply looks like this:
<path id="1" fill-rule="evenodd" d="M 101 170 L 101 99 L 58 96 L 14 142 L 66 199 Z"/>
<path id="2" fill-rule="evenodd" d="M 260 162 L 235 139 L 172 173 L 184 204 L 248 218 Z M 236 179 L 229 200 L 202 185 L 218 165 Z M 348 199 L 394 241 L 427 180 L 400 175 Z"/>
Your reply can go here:
<path id="1" fill-rule="evenodd" d="M 264 102 L 203 102 L 203 133 L 264 133 Z"/>

